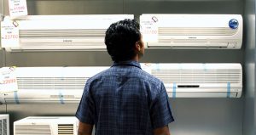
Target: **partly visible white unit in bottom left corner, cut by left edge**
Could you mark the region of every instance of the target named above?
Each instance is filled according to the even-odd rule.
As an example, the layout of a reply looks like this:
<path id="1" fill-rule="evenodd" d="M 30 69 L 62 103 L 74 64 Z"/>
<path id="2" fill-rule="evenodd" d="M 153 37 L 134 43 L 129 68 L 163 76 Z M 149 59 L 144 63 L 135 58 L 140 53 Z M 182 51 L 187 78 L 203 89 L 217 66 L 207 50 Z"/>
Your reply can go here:
<path id="1" fill-rule="evenodd" d="M 0 115 L 0 134 L 9 135 L 9 115 Z"/>

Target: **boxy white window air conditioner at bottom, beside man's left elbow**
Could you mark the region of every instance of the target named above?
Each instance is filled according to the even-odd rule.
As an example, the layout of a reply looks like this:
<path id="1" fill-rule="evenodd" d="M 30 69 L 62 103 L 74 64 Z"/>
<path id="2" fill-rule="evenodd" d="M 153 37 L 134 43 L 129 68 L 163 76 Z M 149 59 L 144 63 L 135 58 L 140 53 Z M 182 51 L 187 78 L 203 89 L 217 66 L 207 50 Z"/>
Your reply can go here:
<path id="1" fill-rule="evenodd" d="M 78 119 L 74 116 L 29 116 L 14 122 L 14 135 L 77 135 Z"/>

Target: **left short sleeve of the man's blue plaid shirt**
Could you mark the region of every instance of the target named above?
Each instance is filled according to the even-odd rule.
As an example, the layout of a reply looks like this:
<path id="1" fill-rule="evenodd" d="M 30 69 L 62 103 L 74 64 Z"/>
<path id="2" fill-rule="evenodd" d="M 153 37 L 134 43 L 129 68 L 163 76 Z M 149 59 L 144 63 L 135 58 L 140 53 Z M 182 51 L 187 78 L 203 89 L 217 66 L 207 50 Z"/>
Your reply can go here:
<path id="1" fill-rule="evenodd" d="M 90 84 L 86 83 L 79 108 L 76 112 L 79 121 L 93 125 L 95 123 L 95 103 L 90 93 Z"/>

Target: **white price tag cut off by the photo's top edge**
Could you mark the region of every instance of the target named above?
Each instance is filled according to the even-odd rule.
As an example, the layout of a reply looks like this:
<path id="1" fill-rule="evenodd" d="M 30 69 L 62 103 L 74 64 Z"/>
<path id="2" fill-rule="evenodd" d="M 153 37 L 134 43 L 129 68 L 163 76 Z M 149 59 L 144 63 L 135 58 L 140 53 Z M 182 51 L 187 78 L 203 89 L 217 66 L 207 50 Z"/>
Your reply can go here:
<path id="1" fill-rule="evenodd" d="M 9 16 L 27 15 L 26 0 L 9 0 Z"/>

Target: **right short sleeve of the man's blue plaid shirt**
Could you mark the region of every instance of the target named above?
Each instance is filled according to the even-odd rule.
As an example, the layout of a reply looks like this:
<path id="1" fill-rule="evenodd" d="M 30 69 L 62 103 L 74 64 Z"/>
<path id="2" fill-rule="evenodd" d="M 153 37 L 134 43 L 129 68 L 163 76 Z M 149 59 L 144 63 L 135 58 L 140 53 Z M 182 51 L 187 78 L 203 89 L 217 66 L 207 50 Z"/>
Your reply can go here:
<path id="1" fill-rule="evenodd" d="M 160 93 L 152 101 L 150 115 L 153 128 L 165 127 L 174 121 L 168 94 L 163 83 L 161 84 Z"/>

